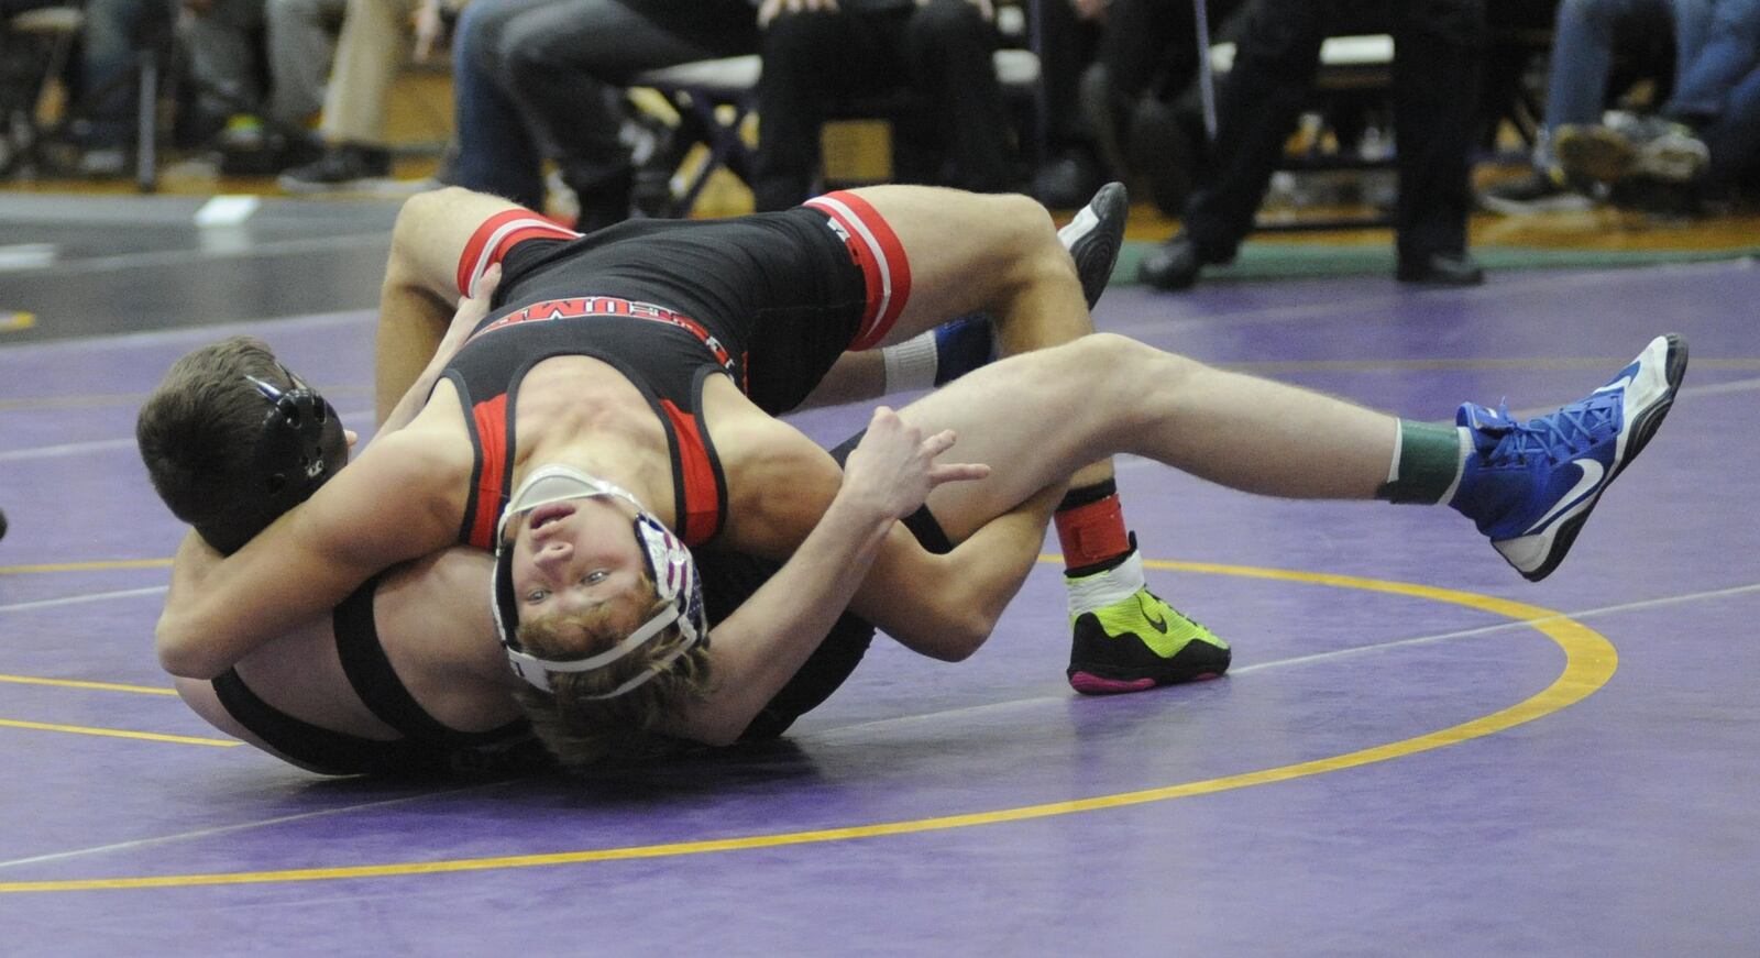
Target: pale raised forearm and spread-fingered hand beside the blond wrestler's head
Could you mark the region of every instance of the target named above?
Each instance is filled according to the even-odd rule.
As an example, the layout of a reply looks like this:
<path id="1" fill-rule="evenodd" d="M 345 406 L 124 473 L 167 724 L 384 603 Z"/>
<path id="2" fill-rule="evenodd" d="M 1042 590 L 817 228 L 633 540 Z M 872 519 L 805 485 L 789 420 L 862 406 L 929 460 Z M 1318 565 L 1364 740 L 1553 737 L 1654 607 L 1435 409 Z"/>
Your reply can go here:
<path id="1" fill-rule="evenodd" d="M 875 412 L 841 486 L 794 556 L 715 627 L 715 692 L 681 703 L 667 731 L 711 745 L 739 738 L 843 615 L 898 520 L 917 511 L 931 488 L 989 474 L 984 465 L 935 463 L 952 444 L 950 431 L 924 438 L 891 409 Z"/>

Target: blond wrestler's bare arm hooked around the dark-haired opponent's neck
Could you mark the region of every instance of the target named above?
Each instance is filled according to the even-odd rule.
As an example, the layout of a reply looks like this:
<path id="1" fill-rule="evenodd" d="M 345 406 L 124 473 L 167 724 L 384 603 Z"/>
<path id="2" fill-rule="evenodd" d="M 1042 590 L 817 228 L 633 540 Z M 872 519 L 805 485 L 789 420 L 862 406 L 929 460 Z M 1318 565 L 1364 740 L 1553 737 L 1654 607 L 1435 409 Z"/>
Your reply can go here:
<path id="1" fill-rule="evenodd" d="M 172 583 L 155 629 L 160 666 L 213 678 L 287 622 L 326 615 L 361 583 L 449 546 L 463 511 L 456 449 L 429 430 L 389 435 L 310 500 L 206 571 Z M 465 465 L 463 468 L 470 468 Z M 181 549 L 195 546 L 192 532 Z"/>

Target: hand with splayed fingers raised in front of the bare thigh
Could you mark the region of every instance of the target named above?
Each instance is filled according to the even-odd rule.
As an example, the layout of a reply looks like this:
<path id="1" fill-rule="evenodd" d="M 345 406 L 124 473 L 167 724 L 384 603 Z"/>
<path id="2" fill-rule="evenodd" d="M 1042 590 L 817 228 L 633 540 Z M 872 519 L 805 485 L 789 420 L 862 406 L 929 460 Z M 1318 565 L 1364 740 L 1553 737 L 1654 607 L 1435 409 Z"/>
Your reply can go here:
<path id="1" fill-rule="evenodd" d="M 854 497 L 854 502 L 882 516 L 903 520 L 942 483 L 987 477 L 989 467 L 982 463 L 935 461 L 952 449 L 954 440 L 954 430 L 924 437 L 922 430 L 906 424 L 891 409 L 880 407 L 868 421 L 868 435 L 843 465 L 843 486 L 838 497 Z"/>

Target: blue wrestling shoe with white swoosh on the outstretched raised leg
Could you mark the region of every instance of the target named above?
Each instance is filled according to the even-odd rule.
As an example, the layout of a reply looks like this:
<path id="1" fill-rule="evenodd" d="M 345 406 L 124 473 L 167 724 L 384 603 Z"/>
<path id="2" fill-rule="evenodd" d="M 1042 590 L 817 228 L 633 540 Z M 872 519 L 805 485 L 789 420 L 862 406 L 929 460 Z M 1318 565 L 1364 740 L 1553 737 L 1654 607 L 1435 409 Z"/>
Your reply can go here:
<path id="1" fill-rule="evenodd" d="M 1589 398 L 1515 423 L 1508 407 L 1466 403 L 1471 453 L 1448 505 L 1478 523 L 1528 581 L 1547 578 L 1619 472 L 1656 435 L 1686 375 L 1686 340 L 1656 336 Z"/>

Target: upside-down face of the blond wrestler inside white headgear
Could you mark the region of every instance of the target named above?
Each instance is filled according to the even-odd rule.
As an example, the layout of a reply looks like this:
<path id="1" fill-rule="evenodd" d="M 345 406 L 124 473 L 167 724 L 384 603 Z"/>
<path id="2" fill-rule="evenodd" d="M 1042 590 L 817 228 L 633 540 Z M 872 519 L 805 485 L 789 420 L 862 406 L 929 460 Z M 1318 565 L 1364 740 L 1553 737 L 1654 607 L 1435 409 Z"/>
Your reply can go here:
<path id="1" fill-rule="evenodd" d="M 519 523 L 512 565 L 519 622 L 581 613 L 641 586 L 641 544 L 621 504 L 570 498 L 540 505 Z"/>

